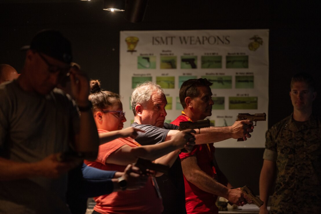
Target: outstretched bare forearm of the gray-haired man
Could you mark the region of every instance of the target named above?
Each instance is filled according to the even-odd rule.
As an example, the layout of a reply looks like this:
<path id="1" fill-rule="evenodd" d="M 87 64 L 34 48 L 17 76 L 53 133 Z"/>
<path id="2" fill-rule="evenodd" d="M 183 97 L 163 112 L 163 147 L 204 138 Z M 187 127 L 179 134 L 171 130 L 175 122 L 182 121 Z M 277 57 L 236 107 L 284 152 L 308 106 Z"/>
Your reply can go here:
<path id="1" fill-rule="evenodd" d="M 195 131 L 198 133 L 195 134 L 196 144 L 219 142 L 232 137 L 230 126 L 202 128 L 200 133 L 196 129 Z"/>

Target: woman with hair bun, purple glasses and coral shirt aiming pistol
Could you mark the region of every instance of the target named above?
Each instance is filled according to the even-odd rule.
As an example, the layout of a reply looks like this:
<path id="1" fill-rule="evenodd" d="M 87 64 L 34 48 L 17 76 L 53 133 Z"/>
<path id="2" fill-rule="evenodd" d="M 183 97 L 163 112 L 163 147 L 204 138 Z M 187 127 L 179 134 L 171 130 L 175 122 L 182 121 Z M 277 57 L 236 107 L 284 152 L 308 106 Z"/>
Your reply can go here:
<path id="1" fill-rule="evenodd" d="M 125 112 L 123 112 L 118 94 L 101 90 L 98 80 L 90 81 L 90 87 L 92 93 L 89 95 L 89 100 L 93 106 L 92 112 L 98 133 L 103 141 L 104 134 L 106 136 L 111 131 L 121 133 L 126 121 Z M 126 130 L 134 137 L 138 131 L 132 127 L 126 128 Z M 138 157 L 142 157 L 154 160 L 155 163 L 171 166 L 181 149 L 190 151 L 195 144 L 195 138 L 191 132 L 194 133 L 194 130 L 184 130 L 169 141 L 147 146 L 141 146 L 131 137 L 117 138 L 99 146 L 96 161 L 85 161 L 85 163 L 88 166 L 104 170 L 124 171 L 128 164 L 134 163 Z M 155 173 L 155 176 L 160 175 L 162 173 Z M 119 181 L 119 185 L 124 191 L 94 198 L 96 206 L 93 213 L 160 214 L 163 211 L 162 200 L 153 176 L 149 176 L 146 185 L 139 190 L 127 191 L 126 185 L 122 181 Z"/>

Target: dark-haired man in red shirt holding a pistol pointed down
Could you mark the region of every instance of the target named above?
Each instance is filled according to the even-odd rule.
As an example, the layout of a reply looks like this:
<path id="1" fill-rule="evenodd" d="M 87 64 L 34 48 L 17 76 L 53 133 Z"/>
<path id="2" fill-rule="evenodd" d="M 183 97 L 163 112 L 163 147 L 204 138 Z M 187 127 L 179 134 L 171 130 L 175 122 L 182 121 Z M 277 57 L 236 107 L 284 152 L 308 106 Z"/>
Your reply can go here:
<path id="1" fill-rule="evenodd" d="M 179 91 L 180 102 L 184 108 L 182 115 L 171 124 L 182 121 L 204 120 L 212 115 L 212 85 L 207 79 L 185 81 Z M 185 183 L 186 211 L 188 213 L 218 213 L 215 205 L 217 196 L 228 200 L 245 197 L 240 189 L 231 189 L 225 175 L 216 164 L 213 143 L 195 145 L 192 152 L 181 153 L 181 165 Z M 243 206 L 246 200 L 237 204 Z"/>

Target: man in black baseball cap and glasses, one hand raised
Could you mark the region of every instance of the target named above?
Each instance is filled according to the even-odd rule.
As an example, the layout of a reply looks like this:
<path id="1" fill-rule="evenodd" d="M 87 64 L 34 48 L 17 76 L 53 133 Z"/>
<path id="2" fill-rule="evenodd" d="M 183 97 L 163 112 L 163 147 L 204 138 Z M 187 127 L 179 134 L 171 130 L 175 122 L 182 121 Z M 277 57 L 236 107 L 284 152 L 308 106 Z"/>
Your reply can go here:
<path id="1" fill-rule="evenodd" d="M 88 101 L 89 83 L 70 68 L 71 45 L 60 32 L 42 30 L 31 41 L 17 80 L 0 85 L 0 213 L 69 213 L 66 172 L 94 160 L 98 134 Z M 76 104 L 56 86 L 69 75 Z"/>

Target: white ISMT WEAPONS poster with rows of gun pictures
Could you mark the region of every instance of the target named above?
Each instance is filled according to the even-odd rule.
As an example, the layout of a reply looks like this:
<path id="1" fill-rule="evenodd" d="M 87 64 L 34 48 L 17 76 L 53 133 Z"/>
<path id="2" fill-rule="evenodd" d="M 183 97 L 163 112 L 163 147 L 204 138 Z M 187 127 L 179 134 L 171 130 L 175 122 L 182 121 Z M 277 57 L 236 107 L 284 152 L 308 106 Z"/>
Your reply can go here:
<path id="1" fill-rule="evenodd" d="M 130 95 L 136 84 L 154 81 L 165 90 L 166 121 L 181 114 L 181 84 L 194 78 L 213 82 L 213 126 L 229 126 L 239 113 L 268 113 L 269 30 L 121 31 L 119 93 L 128 127 L 134 119 Z M 244 142 L 215 147 L 262 148 L 268 123 L 257 122 Z"/>

